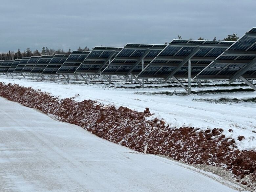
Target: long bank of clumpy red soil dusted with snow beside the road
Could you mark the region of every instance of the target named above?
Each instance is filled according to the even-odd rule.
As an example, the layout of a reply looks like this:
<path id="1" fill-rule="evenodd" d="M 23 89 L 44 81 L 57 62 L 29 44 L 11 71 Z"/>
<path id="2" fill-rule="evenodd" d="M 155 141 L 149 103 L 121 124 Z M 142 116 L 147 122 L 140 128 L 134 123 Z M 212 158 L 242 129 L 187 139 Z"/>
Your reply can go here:
<path id="1" fill-rule="evenodd" d="M 186 127 L 170 129 L 157 118 L 145 120 L 151 116 L 148 108 L 137 112 L 122 106 L 118 109 L 103 106 L 93 100 L 75 102 L 17 84 L 0 83 L 0 96 L 79 125 L 98 137 L 139 152 L 143 152 L 148 144 L 147 153 L 150 154 L 165 155 L 189 164 L 222 166 L 232 170 L 240 179 L 248 174 L 256 179 L 256 153 L 234 150 L 234 139 L 225 138 L 222 129 L 204 132 Z"/>

